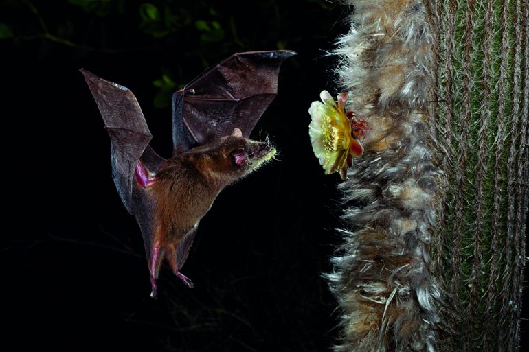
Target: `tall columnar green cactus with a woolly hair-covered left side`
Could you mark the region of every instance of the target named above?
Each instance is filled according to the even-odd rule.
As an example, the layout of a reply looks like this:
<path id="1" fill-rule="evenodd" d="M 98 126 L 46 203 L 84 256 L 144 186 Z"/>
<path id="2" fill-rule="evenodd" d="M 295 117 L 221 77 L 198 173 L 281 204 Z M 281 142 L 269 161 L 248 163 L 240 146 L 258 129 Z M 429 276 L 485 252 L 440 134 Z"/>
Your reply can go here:
<path id="1" fill-rule="evenodd" d="M 347 3 L 337 76 L 369 130 L 339 186 L 335 351 L 517 351 L 529 4 Z"/>

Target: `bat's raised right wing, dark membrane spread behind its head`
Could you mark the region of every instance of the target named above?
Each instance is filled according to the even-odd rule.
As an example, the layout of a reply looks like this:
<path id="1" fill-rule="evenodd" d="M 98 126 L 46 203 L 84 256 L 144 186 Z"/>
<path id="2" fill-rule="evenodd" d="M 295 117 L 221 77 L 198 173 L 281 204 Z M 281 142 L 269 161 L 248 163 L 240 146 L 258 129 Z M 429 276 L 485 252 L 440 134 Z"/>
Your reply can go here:
<path id="1" fill-rule="evenodd" d="M 294 51 L 250 51 L 207 69 L 173 95 L 173 146 L 183 151 L 232 134 L 249 137 L 278 94 L 282 62 Z"/>

